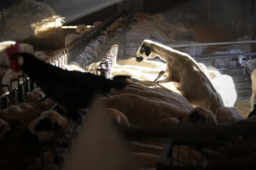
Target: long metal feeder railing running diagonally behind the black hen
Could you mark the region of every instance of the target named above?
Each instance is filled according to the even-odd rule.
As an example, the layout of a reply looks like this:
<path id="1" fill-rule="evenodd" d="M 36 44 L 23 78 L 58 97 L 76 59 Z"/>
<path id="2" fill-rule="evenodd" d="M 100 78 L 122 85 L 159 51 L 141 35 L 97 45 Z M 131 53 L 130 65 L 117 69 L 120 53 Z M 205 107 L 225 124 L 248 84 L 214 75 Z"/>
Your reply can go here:
<path id="1" fill-rule="evenodd" d="M 90 40 L 96 38 L 101 31 L 103 31 L 107 26 L 109 26 L 114 20 L 116 20 L 119 15 L 113 15 L 108 20 L 105 20 L 102 25 L 97 26 L 91 31 L 86 32 L 82 37 L 80 37 L 75 42 L 70 43 L 67 48 L 61 48 L 56 50 L 49 56 L 49 60 L 46 62 L 51 65 L 61 67 L 67 65 L 73 61 L 79 54 L 84 51 L 85 45 L 90 42 Z M 26 77 L 22 75 L 20 77 Z M 32 91 L 32 87 L 35 87 L 35 83 L 26 77 L 23 81 L 20 81 L 20 77 L 17 79 L 11 80 L 9 85 L 1 85 L 0 89 L 0 109 L 3 110 L 9 105 L 15 105 L 20 102 L 26 102 L 26 92 Z M 14 83 L 17 83 L 17 88 L 13 87 Z M 24 90 L 26 89 L 26 90 Z"/>

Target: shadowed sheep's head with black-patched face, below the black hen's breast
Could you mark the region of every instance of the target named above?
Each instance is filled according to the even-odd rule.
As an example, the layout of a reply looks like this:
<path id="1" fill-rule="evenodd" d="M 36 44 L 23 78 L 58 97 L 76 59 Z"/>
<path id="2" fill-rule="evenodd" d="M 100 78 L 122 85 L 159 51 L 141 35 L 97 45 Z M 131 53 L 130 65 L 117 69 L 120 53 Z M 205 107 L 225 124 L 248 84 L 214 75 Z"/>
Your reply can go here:
<path id="1" fill-rule="evenodd" d="M 67 129 L 68 120 L 56 111 L 44 111 L 41 116 L 28 126 L 30 133 L 38 137 L 39 143 L 47 142 L 55 136 L 55 133 Z"/>

